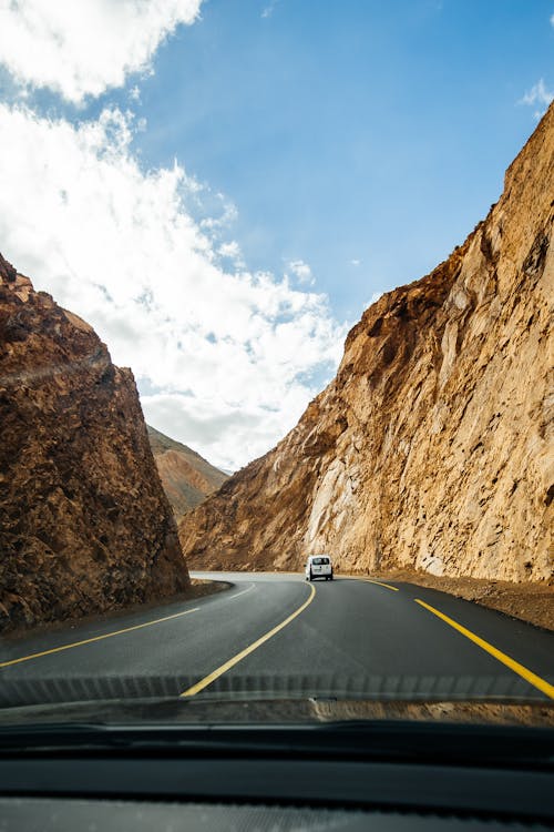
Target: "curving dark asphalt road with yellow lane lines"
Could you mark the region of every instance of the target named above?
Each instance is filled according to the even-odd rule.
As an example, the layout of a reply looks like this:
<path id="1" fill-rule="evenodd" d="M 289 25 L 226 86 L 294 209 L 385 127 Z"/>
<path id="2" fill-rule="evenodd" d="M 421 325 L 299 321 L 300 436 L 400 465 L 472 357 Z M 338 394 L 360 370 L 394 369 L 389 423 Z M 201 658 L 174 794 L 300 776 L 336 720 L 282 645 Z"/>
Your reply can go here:
<path id="1" fill-rule="evenodd" d="M 234 691 L 554 699 L 554 633 L 411 584 L 193 574 L 225 591 L 0 639 L 0 703 Z"/>

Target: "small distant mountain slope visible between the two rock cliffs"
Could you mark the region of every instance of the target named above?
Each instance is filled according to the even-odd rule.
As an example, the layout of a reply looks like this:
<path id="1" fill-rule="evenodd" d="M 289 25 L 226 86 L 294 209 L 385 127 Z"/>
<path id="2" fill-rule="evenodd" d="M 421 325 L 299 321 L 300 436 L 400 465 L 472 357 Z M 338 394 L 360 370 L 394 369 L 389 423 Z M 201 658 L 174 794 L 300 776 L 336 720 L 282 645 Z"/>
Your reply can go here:
<path id="1" fill-rule="evenodd" d="M 146 425 L 150 446 L 164 491 L 178 521 L 228 478 L 186 445 Z"/>

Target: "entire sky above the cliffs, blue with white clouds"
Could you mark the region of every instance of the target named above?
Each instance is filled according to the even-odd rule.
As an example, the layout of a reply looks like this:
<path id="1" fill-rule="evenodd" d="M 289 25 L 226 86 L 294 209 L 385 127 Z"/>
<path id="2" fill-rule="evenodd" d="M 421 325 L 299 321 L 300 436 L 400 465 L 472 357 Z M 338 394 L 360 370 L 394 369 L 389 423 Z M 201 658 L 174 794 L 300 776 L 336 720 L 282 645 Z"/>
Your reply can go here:
<path id="1" fill-rule="evenodd" d="M 236 468 L 486 214 L 553 54 L 554 0 L 4 3 L 0 251 Z"/>

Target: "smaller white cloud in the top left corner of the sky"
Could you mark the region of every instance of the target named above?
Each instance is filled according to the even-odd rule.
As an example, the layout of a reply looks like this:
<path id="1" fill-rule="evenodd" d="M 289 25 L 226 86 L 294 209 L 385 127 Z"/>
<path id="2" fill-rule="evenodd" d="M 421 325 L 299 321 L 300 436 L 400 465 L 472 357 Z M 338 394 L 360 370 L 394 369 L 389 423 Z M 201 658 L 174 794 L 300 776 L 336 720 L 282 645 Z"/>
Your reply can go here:
<path id="1" fill-rule="evenodd" d="M 2 0 L 0 61 L 22 85 L 73 103 L 121 87 L 202 0 Z"/>

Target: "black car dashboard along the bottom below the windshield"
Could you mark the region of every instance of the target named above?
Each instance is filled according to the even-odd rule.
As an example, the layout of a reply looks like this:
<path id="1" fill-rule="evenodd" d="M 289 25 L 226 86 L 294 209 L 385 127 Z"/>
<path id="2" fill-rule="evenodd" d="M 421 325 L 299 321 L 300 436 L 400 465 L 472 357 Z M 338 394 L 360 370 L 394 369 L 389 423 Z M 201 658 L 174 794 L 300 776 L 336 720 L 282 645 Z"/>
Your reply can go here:
<path id="1" fill-rule="evenodd" d="M 4 731 L 2 831 L 516 832 L 554 821 L 550 730 L 355 723 L 25 731 Z"/>

